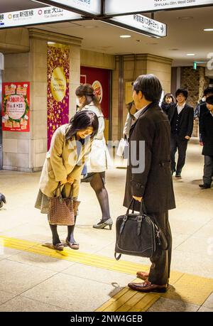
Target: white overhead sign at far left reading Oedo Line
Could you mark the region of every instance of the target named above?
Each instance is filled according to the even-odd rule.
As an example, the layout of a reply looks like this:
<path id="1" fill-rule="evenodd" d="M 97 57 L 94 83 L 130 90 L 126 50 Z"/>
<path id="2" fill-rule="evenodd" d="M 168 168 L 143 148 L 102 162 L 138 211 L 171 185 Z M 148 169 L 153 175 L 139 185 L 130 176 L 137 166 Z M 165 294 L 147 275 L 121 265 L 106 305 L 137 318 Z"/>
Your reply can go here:
<path id="1" fill-rule="evenodd" d="M 0 29 L 78 19 L 81 19 L 81 16 L 77 13 L 72 13 L 71 11 L 53 6 L 47 6 L 43 8 L 0 13 Z"/>

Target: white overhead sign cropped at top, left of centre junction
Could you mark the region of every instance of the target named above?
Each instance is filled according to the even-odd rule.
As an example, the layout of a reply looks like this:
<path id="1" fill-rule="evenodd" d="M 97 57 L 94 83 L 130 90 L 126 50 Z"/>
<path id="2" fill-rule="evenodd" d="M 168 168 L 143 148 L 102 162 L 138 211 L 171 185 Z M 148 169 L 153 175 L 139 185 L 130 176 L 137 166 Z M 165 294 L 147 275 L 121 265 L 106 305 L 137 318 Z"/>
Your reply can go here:
<path id="1" fill-rule="evenodd" d="M 77 13 L 91 13 L 92 15 L 101 14 L 101 0 L 42 0 L 41 2 L 59 7 L 64 5 L 67 6 L 67 9 L 71 9 Z"/>

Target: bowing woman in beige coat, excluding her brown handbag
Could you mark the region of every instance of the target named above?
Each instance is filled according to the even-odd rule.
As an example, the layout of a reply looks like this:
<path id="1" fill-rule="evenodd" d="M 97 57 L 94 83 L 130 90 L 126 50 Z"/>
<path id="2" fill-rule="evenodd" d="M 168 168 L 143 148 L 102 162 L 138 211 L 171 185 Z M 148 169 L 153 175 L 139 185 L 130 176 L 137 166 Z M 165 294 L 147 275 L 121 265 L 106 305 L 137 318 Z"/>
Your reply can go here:
<path id="1" fill-rule="evenodd" d="M 91 151 L 98 127 L 99 121 L 94 112 L 77 112 L 69 124 L 63 124 L 53 134 L 35 202 L 35 208 L 41 213 L 49 213 L 50 197 L 54 196 L 59 183 L 62 185 L 62 197 L 69 197 L 72 187 L 72 197 L 77 200 L 84 161 Z M 57 225 L 50 224 L 50 229 L 53 234 L 53 248 L 62 251 L 64 246 L 60 241 Z M 74 229 L 75 225 L 67 226 L 66 243 L 71 249 L 79 249 L 79 244 L 74 239 Z"/>

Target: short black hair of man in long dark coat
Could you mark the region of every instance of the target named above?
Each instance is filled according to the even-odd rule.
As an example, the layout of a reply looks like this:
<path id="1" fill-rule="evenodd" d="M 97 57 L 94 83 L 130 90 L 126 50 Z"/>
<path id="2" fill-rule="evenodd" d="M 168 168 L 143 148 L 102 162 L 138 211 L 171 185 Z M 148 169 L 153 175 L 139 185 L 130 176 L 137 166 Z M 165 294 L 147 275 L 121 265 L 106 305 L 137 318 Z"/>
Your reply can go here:
<path id="1" fill-rule="evenodd" d="M 146 100 L 151 102 L 159 102 L 163 91 L 160 80 L 152 74 L 138 76 L 133 83 L 133 90 L 137 94 L 141 91 Z"/>

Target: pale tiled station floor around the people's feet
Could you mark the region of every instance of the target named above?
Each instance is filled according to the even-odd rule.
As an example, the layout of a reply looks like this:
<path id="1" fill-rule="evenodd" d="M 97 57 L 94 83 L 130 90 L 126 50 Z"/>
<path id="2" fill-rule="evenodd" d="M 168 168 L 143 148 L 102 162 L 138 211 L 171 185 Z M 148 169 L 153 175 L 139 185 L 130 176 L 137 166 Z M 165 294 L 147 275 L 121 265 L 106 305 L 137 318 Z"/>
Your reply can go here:
<path id="1" fill-rule="evenodd" d="M 89 265 L 89 254 L 116 264 L 115 227 L 111 231 L 92 229 L 101 217 L 100 209 L 90 186 L 82 184 L 75 238 L 84 261 L 77 261 L 77 251 L 71 251 L 76 257 L 71 261 L 51 253 L 28 252 L 27 245 L 2 247 L 0 242 L 0 311 L 93 311 L 99 307 L 106 311 L 107 307 L 118 311 L 213 311 L 213 188 L 198 188 L 203 170 L 201 151 L 197 140 L 192 140 L 182 179 L 174 177 L 177 209 L 170 211 L 170 224 L 172 270 L 177 273 L 173 272 L 168 294 L 142 295 L 125 288 L 135 278 L 133 268 L 137 263 L 148 268 L 148 259 L 124 256 L 114 270 L 99 268 L 100 261 L 98 266 L 95 261 Z M 115 167 L 107 172 L 114 221 L 125 212 L 125 174 L 125 169 Z M 51 241 L 46 216 L 33 208 L 39 177 L 40 173 L 0 171 L 1 191 L 7 199 L 0 210 L 0 236 L 34 245 Z M 60 227 L 59 232 L 65 239 L 66 227 Z"/>

